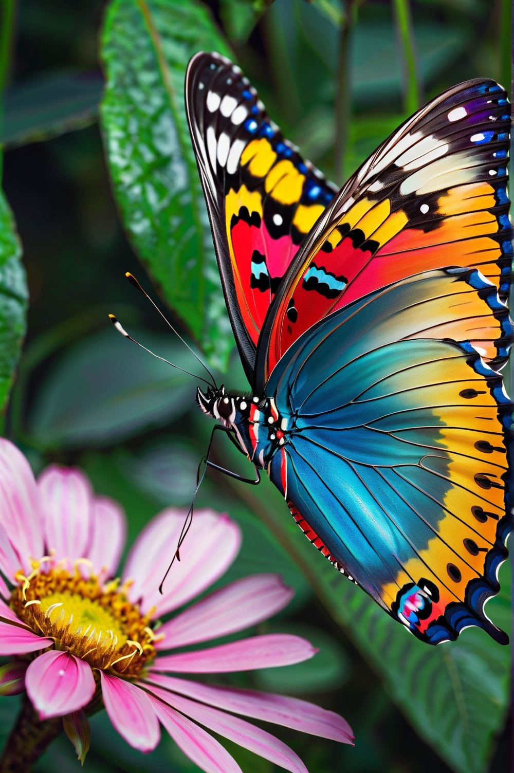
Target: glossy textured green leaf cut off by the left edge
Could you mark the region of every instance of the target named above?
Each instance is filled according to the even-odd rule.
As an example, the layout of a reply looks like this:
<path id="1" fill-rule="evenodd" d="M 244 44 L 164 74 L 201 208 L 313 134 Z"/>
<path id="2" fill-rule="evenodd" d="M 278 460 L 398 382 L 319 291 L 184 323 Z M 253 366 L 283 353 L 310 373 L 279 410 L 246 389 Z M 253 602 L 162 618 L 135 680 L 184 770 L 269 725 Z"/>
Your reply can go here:
<path id="1" fill-rule="evenodd" d="M 5 410 L 26 331 L 28 291 L 14 218 L 0 190 L 0 413 Z"/>

